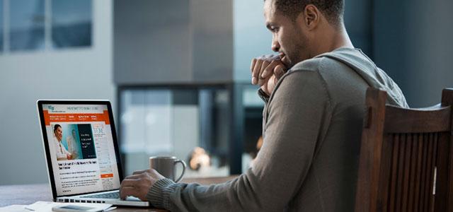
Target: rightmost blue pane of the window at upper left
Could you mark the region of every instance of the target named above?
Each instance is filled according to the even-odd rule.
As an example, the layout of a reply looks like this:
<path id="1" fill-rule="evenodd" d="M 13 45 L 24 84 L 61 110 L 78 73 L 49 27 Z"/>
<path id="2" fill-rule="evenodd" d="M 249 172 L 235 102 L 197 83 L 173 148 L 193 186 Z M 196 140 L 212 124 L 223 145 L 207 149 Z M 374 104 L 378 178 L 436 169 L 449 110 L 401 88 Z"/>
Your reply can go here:
<path id="1" fill-rule="evenodd" d="M 52 47 L 91 46 L 91 0 L 52 1 Z"/>

